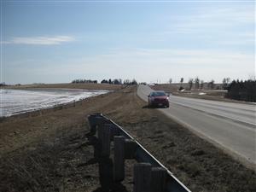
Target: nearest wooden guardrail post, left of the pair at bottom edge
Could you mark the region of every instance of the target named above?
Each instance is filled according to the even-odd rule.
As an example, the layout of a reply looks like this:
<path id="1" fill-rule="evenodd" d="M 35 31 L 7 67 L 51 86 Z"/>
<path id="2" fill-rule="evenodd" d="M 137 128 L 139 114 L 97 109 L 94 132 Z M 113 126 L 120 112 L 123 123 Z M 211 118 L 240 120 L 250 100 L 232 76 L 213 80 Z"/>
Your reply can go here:
<path id="1" fill-rule="evenodd" d="M 138 163 L 134 166 L 133 192 L 150 191 L 151 167 L 150 163 Z"/>

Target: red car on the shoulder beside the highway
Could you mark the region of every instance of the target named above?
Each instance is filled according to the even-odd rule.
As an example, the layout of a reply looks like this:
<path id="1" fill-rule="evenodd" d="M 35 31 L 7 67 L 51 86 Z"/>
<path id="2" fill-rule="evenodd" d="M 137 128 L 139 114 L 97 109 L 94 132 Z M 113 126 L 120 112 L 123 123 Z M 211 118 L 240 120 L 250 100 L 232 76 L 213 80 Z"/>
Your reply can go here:
<path id="1" fill-rule="evenodd" d="M 169 108 L 169 95 L 164 90 L 155 90 L 148 95 L 148 107 Z"/>

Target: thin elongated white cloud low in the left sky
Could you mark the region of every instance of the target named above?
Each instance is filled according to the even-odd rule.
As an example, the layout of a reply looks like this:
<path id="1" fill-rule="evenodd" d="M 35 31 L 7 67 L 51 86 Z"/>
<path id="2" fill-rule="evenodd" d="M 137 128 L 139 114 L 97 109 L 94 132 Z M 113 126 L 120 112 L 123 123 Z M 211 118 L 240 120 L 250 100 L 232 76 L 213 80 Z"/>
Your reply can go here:
<path id="1" fill-rule="evenodd" d="M 72 42 L 75 38 L 71 36 L 38 36 L 38 37 L 15 37 L 10 41 L 4 41 L 1 44 L 33 44 L 33 45 L 55 45 L 66 42 Z"/>

